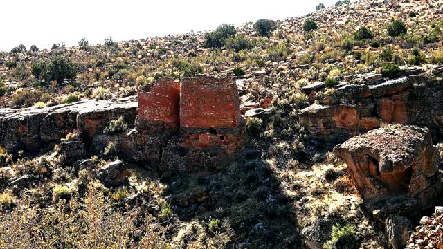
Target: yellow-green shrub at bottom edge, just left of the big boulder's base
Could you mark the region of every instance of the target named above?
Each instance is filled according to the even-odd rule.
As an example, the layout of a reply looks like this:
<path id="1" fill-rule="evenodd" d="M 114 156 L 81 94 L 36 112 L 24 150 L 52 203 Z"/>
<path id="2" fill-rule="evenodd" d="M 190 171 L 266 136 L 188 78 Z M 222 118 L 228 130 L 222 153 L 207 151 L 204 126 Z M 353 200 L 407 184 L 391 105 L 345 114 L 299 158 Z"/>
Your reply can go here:
<path id="1" fill-rule="evenodd" d="M 332 227 L 331 239 L 325 244 L 325 249 L 357 249 L 360 247 L 361 238 L 356 233 L 354 225 Z"/>

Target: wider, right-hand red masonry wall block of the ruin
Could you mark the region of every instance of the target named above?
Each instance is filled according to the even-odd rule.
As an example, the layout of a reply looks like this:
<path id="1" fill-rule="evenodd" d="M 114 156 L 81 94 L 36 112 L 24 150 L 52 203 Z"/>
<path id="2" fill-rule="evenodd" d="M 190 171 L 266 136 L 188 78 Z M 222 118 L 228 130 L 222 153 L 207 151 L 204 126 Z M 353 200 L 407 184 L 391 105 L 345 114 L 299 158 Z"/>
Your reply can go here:
<path id="1" fill-rule="evenodd" d="M 235 128 L 241 120 L 233 79 L 181 80 L 180 125 L 186 128 Z"/>

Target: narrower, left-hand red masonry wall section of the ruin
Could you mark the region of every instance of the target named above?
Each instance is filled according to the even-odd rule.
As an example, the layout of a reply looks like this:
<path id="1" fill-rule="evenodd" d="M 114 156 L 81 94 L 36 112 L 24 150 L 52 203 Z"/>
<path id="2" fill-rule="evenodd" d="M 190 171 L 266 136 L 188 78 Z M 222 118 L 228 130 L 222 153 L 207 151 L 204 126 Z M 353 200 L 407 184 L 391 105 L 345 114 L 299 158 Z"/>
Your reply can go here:
<path id="1" fill-rule="evenodd" d="M 179 124 L 180 84 L 164 78 L 138 91 L 138 120 Z"/>

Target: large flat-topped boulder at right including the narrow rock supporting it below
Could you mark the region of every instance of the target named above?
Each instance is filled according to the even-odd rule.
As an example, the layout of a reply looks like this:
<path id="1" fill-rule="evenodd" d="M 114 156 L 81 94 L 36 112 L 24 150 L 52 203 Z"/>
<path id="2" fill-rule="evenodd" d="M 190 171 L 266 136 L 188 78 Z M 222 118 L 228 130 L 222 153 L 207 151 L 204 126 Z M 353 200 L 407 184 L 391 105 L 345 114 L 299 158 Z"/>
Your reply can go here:
<path id="1" fill-rule="evenodd" d="M 365 208 L 386 228 L 390 248 L 405 248 L 411 218 L 442 190 L 440 154 L 427 128 L 390 124 L 334 148 Z"/>

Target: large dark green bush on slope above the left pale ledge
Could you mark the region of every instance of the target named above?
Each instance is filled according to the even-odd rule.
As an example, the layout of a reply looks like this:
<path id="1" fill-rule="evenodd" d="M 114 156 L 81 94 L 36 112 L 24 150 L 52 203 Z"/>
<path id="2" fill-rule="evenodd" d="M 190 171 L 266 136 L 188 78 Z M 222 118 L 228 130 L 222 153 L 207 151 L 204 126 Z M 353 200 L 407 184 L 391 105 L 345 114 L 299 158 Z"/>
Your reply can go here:
<path id="1" fill-rule="evenodd" d="M 31 70 L 37 79 L 45 82 L 55 80 L 62 83 L 65 79 L 71 80 L 77 76 L 74 64 L 60 55 L 52 57 L 49 61 L 36 62 Z"/>

